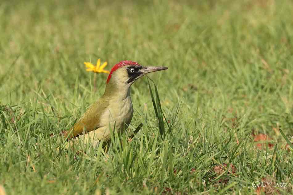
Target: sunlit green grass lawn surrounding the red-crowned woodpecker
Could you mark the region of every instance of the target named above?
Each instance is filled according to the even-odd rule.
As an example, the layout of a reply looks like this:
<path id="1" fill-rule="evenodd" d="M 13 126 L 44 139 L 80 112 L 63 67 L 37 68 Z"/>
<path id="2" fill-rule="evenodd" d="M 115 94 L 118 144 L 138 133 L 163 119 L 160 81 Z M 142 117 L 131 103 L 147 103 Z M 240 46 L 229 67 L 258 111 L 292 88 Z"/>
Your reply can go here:
<path id="1" fill-rule="evenodd" d="M 2 1 L 0 185 L 12 195 L 250 194 L 270 177 L 287 183 L 274 193 L 290 193 L 292 150 L 278 129 L 293 141 L 291 13 L 290 0 Z M 95 91 L 83 65 L 98 58 L 107 70 L 125 59 L 169 67 L 149 77 L 170 123 L 157 119 L 141 78 L 121 142 L 114 136 L 107 153 L 57 152 L 49 134 L 104 92 L 107 75 Z M 274 147 L 258 150 L 252 129 Z M 215 173 L 223 163 L 235 172 Z"/>

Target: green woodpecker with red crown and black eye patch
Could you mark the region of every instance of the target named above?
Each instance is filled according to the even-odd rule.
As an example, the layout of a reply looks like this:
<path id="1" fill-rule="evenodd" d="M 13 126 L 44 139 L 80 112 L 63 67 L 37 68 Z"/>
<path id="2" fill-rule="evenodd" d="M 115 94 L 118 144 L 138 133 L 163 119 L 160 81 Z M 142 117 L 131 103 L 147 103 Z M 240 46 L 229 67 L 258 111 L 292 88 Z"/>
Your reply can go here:
<path id="1" fill-rule="evenodd" d="M 95 146 L 101 139 L 108 142 L 111 131 L 123 133 L 133 116 L 130 86 L 147 73 L 166 70 L 167 67 L 141 66 L 137 62 L 122 61 L 113 66 L 106 82 L 105 93 L 94 102 L 69 131 L 68 139 L 82 138 Z"/>

